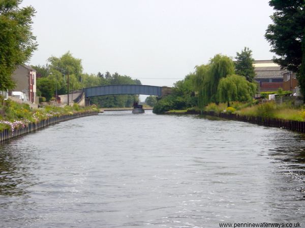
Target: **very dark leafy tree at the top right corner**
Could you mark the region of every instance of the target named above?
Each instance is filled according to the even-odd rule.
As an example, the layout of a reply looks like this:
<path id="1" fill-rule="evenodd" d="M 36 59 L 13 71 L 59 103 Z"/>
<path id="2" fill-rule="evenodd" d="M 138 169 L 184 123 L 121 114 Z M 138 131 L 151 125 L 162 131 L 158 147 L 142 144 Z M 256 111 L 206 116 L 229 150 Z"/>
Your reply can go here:
<path id="1" fill-rule="evenodd" d="M 305 70 L 301 71 L 305 40 L 305 3 L 303 0 L 271 0 L 269 5 L 276 11 L 271 16 L 273 24 L 268 25 L 266 40 L 277 56 L 273 61 L 297 73 L 305 97 Z"/>

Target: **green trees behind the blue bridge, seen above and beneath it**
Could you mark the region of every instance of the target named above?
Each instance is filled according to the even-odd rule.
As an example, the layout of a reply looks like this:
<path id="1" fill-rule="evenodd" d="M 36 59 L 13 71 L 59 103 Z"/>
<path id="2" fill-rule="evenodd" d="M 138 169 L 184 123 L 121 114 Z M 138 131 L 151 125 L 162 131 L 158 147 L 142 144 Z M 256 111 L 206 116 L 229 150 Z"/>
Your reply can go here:
<path id="1" fill-rule="evenodd" d="M 32 66 L 37 74 L 37 95 L 46 98 L 46 101 L 54 98 L 55 95 L 81 90 L 86 87 L 106 85 L 141 85 L 140 80 L 132 79 L 127 75 L 120 75 L 117 72 L 97 74 L 83 73 L 81 59 L 75 58 L 70 52 L 61 57 L 48 58 L 49 65 Z M 92 104 L 102 107 L 130 107 L 134 101 L 138 101 L 138 95 L 110 95 L 94 97 L 90 99 Z"/>

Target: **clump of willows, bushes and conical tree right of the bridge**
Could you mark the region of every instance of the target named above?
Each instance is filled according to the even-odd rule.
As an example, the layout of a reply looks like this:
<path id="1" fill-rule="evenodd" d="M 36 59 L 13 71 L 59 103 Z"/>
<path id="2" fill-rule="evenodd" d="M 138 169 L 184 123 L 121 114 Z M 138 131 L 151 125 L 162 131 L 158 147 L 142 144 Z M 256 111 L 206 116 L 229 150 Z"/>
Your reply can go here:
<path id="1" fill-rule="evenodd" d="M 217 54 L 207 64 L 196 66 L 194 72 L 174 84 L 173 94 L 160 100 L 154 112 L 193 106 L 202 110 L 211 102 L 230 106 L 231 101 L 251 101 L 257 90 L 252 51 L 245 48 L 235 59 Z"/>

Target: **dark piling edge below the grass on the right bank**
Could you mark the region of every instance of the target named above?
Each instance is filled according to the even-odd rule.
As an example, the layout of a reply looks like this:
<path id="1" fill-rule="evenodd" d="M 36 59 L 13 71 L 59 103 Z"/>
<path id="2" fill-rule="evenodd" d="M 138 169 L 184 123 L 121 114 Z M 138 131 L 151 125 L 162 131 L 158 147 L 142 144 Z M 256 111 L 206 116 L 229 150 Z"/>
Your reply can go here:
<path id="1" fill-rule="evenodd" d="M 188 111 L 188 114 L 199 114 L 197 111 Z M 298 131 L 305 133 L 305 122 L 282 120 L 275 118 L 263 118 L 263 117 L 247 117 L 240 116 L 234 113 L 215 113 L 214 111 L 203 111 L 202 115 L 220 117 L 228 120 L 248 122 L 266 127 L 283 128 L 291 131 Z"/>

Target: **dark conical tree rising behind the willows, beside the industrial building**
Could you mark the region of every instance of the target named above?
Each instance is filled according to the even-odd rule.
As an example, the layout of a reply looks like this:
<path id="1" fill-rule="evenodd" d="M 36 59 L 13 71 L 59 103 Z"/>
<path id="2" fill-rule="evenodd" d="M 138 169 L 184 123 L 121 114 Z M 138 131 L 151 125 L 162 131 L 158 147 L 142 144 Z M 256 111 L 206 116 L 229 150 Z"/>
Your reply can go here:
<path id="1" fill-rule="evenodd" d="M 248 82 L 253 82 L 255 77 L 254 58 L 252 51 L 245 47 L 240 53 L 236 52 L 235 73 L 245 76 Z"/>

